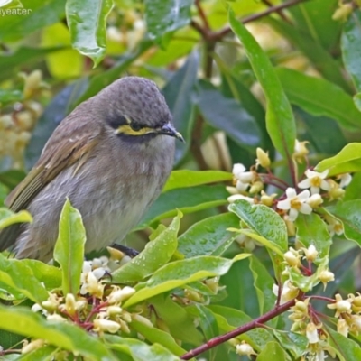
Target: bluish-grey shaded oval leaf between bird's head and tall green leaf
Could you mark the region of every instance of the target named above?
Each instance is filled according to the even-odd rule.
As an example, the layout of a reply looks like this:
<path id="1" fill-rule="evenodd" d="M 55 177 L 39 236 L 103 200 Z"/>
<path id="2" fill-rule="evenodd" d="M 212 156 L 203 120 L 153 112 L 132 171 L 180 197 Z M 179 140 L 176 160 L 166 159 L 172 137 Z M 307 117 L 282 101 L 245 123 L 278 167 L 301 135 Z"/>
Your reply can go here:
<path id="1" fill-rule="evenodd" d="M 254 116 L 235 99 L 223 96 L 210 82 L 199 81 L 199 110 L 208 124 L 221 129 L 236 143 L 255 150 L 261 135 Z"/>

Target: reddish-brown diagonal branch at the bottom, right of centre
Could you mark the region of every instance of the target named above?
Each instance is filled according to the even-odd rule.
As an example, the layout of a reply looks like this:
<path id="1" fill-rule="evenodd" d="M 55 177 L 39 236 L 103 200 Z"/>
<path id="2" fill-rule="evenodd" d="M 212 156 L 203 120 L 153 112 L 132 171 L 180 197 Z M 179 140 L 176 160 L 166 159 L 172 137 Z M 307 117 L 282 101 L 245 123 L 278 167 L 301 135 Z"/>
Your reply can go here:
<path id="1" fill-rule="evenodd" d="M 227 332 L 225 335 L 218 336 L 216 338 L 211 338 L 209 341 L 199 347 L 193 348 L 180 358 L 182 360 L 190 360 L 190 358 L 198 356 L 202 354 L 205 351 L 208 351 L 208 349 L 216 347 L 224 342 L 226 342 L 228 339 L 236 338 L 237 336 L 251 330 L 255 329 L 257 327 L 260 327 L 260 324 L 264 324 L 265 322 L 269 321 L 270 319 L 274 319 L 275 317 L 281 315 L 286 310 L 290 310 L 292 306 L 294 306 L 296 303 L 296 299 L 288 301 L 286 303 L 283 303 L 281 306 L 275 307 L 273 310 L 268 311 L 267 313 L 264 313 L 263 316 L 260 316 L 257 319 L 252 320 L 251 322 L 246 323 L 245 325 L 234 329 L 230 332 Z"/>

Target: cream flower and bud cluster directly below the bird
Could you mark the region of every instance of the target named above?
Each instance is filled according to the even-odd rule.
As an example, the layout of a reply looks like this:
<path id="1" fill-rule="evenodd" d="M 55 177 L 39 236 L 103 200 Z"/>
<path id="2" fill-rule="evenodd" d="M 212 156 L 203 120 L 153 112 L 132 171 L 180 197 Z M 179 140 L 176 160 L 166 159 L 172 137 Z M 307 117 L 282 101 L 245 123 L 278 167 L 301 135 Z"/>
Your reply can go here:
<path id="1" fill-rule="evenodd" d="M 42 311 L 51 322 L 72 322 L 82 329 L 102 335 L 104 333 L 130 333 L 129 323 L 134 319 L 153 327 L 152 322 L 139 312 L 128 312 L 122 303 L 130 298 L 135 290 L 132 287 L 119 287 L 105 282 L 112 267 L 112 259 L 103 256 L 85 261 L 80 276 L 79 294 L 49 292 L 49 298 L 35 303 L 32 311 Z M 25 342 L 22 352 L 27 353 L 42 347 L 44 341 L 34 339 Z"/>

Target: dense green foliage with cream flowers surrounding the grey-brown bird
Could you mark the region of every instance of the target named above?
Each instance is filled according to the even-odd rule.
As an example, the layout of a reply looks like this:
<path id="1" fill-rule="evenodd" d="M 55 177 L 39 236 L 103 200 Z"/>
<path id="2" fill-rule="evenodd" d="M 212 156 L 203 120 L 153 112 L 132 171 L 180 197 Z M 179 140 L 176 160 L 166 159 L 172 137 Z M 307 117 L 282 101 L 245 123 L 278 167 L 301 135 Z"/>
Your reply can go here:
<path id="1" fill-rule="evenodd" d="M 359 360 L 360 6 L 0 1 L 0 205 L 127 74 L 159 84 L 186 140 L 126 237 L 140 255 L 84 261 L 71 199 L 54 264 L 0 255 L 0 357 Z M 31 221 L 0 208 L 0 228 Z"/>

